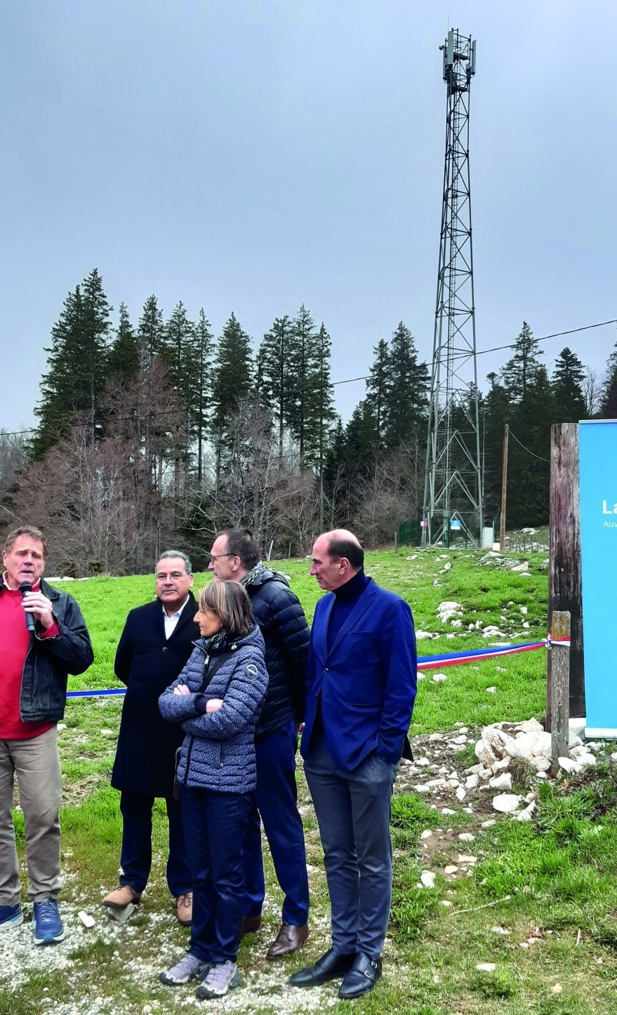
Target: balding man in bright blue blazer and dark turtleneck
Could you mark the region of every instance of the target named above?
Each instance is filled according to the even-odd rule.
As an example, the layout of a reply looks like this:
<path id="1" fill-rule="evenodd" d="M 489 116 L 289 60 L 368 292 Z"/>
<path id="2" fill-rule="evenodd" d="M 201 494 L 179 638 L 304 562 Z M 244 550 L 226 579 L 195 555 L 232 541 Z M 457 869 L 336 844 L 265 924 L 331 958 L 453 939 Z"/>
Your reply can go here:
<path id="1" fill-rule="evenodd" d="M 343 977 L 358 998 L 382 975 L 392 899 L 391 799 L 416 695 L 411 610 L 363 570 L 364 551 L 337 529 L 313 547 L 311 574 L 330 595 L 311 631 L 300 752 L 320 826 L 332 948 L 289 977 L 313 987 Z"/>

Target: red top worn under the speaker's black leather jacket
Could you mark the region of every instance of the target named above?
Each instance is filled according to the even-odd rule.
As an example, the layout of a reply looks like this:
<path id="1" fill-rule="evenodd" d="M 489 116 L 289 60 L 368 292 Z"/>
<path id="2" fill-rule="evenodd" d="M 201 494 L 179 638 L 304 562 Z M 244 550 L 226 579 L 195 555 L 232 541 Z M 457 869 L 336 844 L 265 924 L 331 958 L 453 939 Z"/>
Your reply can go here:
<path id="1" fill-rule="evenodd" d="M 35 588 L 39 588 L 39 585 Z M 22 600 L 23 596 L 18 589 L 4 586 L 0 594 L 0 740 L 29 740 L 47 733 L 56 725 L 22 723 L 19 718 L 21 675 L 30 644 Z M 59 633 L 54 620 L 52 626 L 41 636 L 54 637 Z"/>

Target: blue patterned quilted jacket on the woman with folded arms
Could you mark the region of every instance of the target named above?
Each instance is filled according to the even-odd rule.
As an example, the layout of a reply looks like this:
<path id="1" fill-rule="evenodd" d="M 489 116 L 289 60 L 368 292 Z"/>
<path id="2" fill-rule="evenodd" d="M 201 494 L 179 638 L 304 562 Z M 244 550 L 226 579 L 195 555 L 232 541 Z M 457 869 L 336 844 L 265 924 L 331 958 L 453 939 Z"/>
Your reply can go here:
<path id="1" fill-rule="evenodd" d="M 206 690 L 208 698 L 222 698 L 218 712 L 200 715 L 196 699 L 216 655 L 206 655 L 204 638 L 177 680 L 162 692 L 158 707 L 163 719 L 182 723 L 186 733 L 178 765 L 178 782 L 219 793 L 251 793 L 257 785 L 255 724 L 268 688 L 264 638 L 259 627 L 226 646 L 229 653 Z M 220 653 L 219 653 L 220 654 Z M 174 694 L 186 684 L 191 694 Z"/>

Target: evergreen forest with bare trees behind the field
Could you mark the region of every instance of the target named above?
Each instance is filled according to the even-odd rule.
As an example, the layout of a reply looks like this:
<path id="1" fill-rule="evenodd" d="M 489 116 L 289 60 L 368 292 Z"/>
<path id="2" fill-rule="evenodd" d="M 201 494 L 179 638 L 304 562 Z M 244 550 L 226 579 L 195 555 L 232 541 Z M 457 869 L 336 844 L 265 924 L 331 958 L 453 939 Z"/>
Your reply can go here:
<path id="1" fill-rule="evenodd" d="M 216 531 L 253 530 L 264 554 L 302 555 L 346 527 L 391 544 L 422 511 L 430 363 L 401 321 L 375 337 L 364 397 L 344 424 L 332 338 L 301 306 L 254 343 L 155 295 L 116 317 L 96 269 L 68 293 L 46 347 L 32 431 L 0 430 L 3 529 L 40 526 L 50 573 L 143 573 L 168 547 L 204 566 Z M 531 327 L 480 395 L 485 524 L 498 524 L 504 426 L 508 528 L 548 521 L 552 423 L 617 418 L 617 345 L 604 377 L 565 347 L 549 375 Z M 51 567 L 51 570 L 50 570 Z"/>

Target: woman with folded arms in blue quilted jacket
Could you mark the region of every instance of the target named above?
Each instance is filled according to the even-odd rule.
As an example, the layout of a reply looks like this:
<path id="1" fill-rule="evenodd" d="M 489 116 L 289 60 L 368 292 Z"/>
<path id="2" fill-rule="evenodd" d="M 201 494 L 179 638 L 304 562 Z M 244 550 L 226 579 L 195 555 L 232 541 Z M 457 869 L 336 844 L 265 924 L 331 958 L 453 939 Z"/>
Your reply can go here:
<path id="1" fill-rule="evenodd" d="M 214 580 L 195 616 L 201 637 L 160 695 L 163 719 L 182 723 L 177 779 L 193 872 L 189 951 L 160 980 L 202 980 L 199 998 L 239 985 L 235 957 L 244 915 L 242 849 L 256 787 L 255 724 L 268 687 L 264 639 L 241 585 Z"/>

